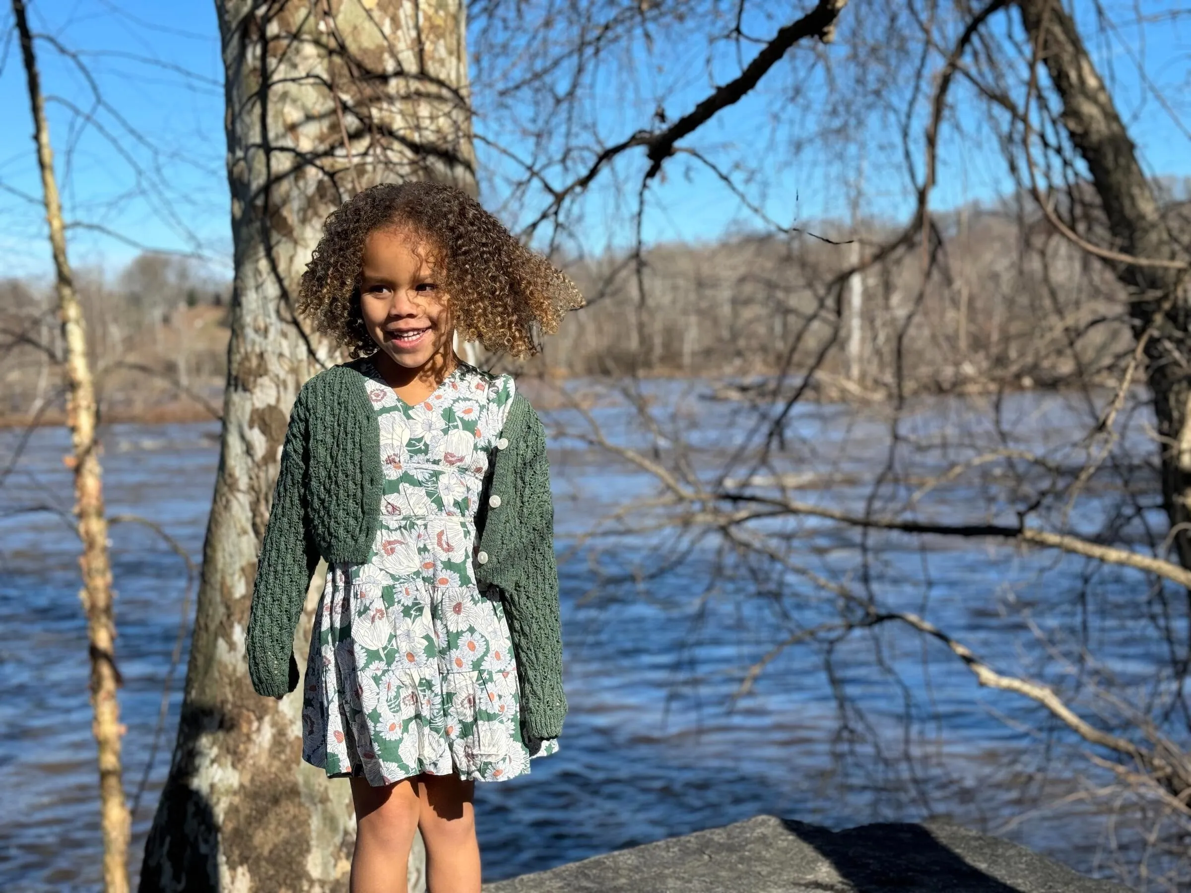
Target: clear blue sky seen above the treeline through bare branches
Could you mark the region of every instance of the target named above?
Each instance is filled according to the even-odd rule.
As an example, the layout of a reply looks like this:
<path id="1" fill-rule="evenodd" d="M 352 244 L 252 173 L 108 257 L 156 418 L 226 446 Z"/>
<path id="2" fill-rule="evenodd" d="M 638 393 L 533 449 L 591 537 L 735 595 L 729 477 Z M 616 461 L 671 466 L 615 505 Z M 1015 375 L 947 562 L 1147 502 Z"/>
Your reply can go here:
<path id="1" fill-rule="evenodd" d="M 794 0 L 762 4 L 757 30 L 768 32 L 768 21 L 785 20 L 792 10 L 805 5 Z M 1148 14 L 1160 14 L 1176 6 L 1152 0 L 1143 8 Z M 231 245 L 224 174 L 223 67 L 213 5 L 206 0 L 168 5 L 146 0 L 33 0 L 30 7 L 35 30 L 79 54 L 95 76 L 105 102 L 94 105 L 93 90 L 69 56 L 49 42 L 38 44 L 43 88 L 56 98 L 49 113 L 67 214 L 99 227 L 71 230 L 75 264 L 114 271 L 143 248 L 154 248 L 193 252 L 208 258 L 214 269 L 226 270 Z M 1079 0 L 1077 7 L 1081 15 L 1091 14 L 1085 0 Z M 1133 13 L 1127 0 L 1117 0 L 1117 6 L 1110 4 L 1108 8 L 1110 14 L 1120 13 L 1121 20 Z M 850 10 L 849 5 L 844 14 Z M 0 25 L 11 32 L 11 13 L 5 13 L 0 14 Z M 1191 138 L 1176 120 L 1180 115 L 1191 120 L 1180 99 L 1191 94 L 1191 18 L 1176 17 L 1143 29 L 1102 33 L 1106 36 L 1096 39 L 1092 49 L 1148 170 L 1191 175 Z M 1167 110 L 1147 95 L 1133 57 L 1143 57 L 1146 76 L 1172 102 L 1183 105 Z M 32 125 L 20 56 L 11 37 L 0 63 L 0 108 L 6 121 L 0 129 L 4 275 L 44 275 L 49 251 Z M 690 70 L 673 77 L 673 101 L 667 107 L 672 118 L 687 111 L 707 88 L 705 77 L 700 82 L 704 60 L 698 48 L 684 64 Z M 622 119 L 626 132 L 640 126 L 641 118 L 631 104 L 624 105 L 624 96 L 612 89 L 607 93 L 616 99 L 598 113 L 611 123 L 610 130 Z M 729 157 L 769 151 L 772 146 L 761 143 L 750 145 L 754 135 L 749 130 L 762 126 L 761 119 L 771 107 L 760 96 L 753 106 L 744 101 L 731 114 L 712 121 L 699 138 L 727 146 Z M 94 119 L 81 131 L 80 112 Z M 944 131 L 935 207 L 992 200 L 1009 188 L 993 133 L 979 114 L 961 106 L 959 125 L 966 131 L 962 138 L 954 129 Z M 906 213 L 910 191 L 899 167 L 896 135 L 887 123 L 875 119 L 866 126 L 866 138 L 848 151 L 821 149 L 812 142 L 793 160 L 782 156 L 769 171 L 766 188 L 757 186 L 750 193 L 756 204 L 784 223 L 796 213 L 802 221 L 847 217 L 852 183 L 863 166 L 862 212 L 885 217 Z M 495 163 L 481 150 L 484 161 Z M 630 161 L 628 169 L 638 162 L 640 157 Z M 495 194 L 499 188 L 491 187 L 481 198 L 500 205 L 503 196 Z M 611 195 L 604 187 L 588 201 L 586 237 L 592 250 L 623 244 L 631 231 L 630 210 L 618 206 Z M 712 174 L 684 158 L 667 164 L 666 179 L 651 187 L 648 207 L 648 241 L 712 239 L 757 223 Z"/>

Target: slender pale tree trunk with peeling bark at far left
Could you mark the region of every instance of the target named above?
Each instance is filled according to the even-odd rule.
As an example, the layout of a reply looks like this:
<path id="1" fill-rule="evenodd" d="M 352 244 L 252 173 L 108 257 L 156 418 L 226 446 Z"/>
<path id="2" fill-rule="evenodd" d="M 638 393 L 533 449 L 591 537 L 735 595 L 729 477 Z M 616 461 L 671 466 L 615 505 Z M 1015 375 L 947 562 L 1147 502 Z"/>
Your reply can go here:
<path id="1" fill-rule="evenodd" d="M 127 893 L 129 889 L 129 806 L 124 798 L 120 770 L 120 705 L 116 691 L 120 674 L 116 669 L 116 620 L 112 611 L 112 568 L 107 555 L 107 518 L 104 514 L 104 487 L 95 439 L 95 391 L 87 356 L 87 329 L 75 293 L 74 274 L 67 260 L 66 226 L 54 176 L 54 151 L 45 120 L 40 80 L 33 38 L 29 31 L 25 4 L 13 0 L 13 17 L 20 35 L 21 57 L 29 81 L 29 100 L 33 110 L 37 139 L 37 163 L 42 173 L 45 220 L 50 229 L 54 254 L 58 319 L 66 343 L 67 425 L 74 455 L 67 464 L 74 469 L 75 517 L 82 541 L 82 600 L 87 614 L 87 644 L 91 652 L 91 704 L 94 712 L 92 732 L 99 755 L 100 833 L 104 838 L 104 889 Z"/>

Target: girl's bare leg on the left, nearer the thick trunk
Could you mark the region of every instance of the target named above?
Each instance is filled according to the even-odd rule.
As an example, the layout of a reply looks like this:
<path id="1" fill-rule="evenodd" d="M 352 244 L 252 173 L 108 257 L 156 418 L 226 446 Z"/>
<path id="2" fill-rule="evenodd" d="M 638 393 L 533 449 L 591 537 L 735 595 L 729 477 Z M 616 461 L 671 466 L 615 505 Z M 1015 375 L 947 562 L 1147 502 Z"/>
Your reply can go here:
<path id="1" fill-rule="evenodd" d="M 373 787 L 366 779 L 351 779 L 351 799 L 356 807 L 351 893 L 406 893 L 420 811 L 414 780 Z"/>

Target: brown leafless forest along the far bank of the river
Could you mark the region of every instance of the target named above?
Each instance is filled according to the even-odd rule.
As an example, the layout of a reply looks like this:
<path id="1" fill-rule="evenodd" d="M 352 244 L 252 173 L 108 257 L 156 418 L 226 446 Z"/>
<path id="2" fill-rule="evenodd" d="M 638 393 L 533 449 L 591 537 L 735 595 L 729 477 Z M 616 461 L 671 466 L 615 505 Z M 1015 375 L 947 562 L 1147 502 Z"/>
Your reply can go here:
<path id="1" fill-rule="evenodd" d="M 1159 182 L 1155 189 L 1172 229 L 1186 226 L 1185 187 Z M 831 242 L 757 231 L 709 245 L 650 245 L 641 255 L 640 283 L 631 252 L 569 263 L 561 257 L 588 305 L 545 343 L 531 371 L 707 377 L 730 388 L 779 370 L 815 369 L 812 398 L 869 402 L 898 388 L 989 393 L 1117 380 L 1115 368 L 1131 349 L 1120 314 L 1122 286 L 1087 252 L 1055 237 L 1027 196 L 941 213 L 937 227 L 937 273 L 923 283 L 916 256 L 866 268 L 854 279 L 861 312 L 853 316 L 849 305 L 842 319 L 818 295 L 850 269 L 852 244 L 879 244 L 896 226 L 862 223 L 853 231 L 828 220 L 816 232 L 831 233 Z M 641 312 L 638 285 L 648 295 Z M 56 418 L 60 348 L 44 287 L 8 280 L 2 288 L 5 329 L 14 339 L 19 333 L 2 357 L 5 414 L 10 424 Z M 218 414 L 227 282 L 185 258 L 143 255 L 111 281 L 83 271 L 80 293 L 94 320 L 91 350 L 105 413 Z M 638 321 L 628 325 L 630 319 Z"/>

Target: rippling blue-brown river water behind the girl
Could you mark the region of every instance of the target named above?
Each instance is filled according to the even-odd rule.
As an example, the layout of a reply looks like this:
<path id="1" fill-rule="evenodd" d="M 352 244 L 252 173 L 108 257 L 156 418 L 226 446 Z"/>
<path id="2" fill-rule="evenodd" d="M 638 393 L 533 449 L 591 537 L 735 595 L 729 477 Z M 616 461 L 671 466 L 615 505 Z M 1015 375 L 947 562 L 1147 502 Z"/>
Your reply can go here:
<path id="1" fill-rule="evenodd" d="M 1062 398 L 1018 399 L 1019 430 L 1037 443 L 1061 439 L 1075 424 L 1077 410 Z M 691 406 L 691 439 L 709 455 L 728 450 L 734 436 L 725 432 L 741 427 L 740 411 L 698 400 Z M 840 470 L 841 438 L 863 441 L 867 426 L 879 441 L 884 431 L 831 407 L 803 412 L 793 452 L 804 469 Z M 931 424 L 940 412 L 931 413 Z M 622 414 L 604 414 L 609 436 L 640 439 Z M 548 423 L 575 426 L 578 418 L 559 412 Z M 20 436 L 0 432 L 0 470 Z M 660 436 L 653 437 L 656 447 Z M 161 525 L 197 561 L 218 426 L 113 425 L 104 442 L 110 512 Z M 754 691 L 734 701 L 748 668 L 792 624 L 825 617 L 830 600 L 809 591 L 802 600 L 797 592 L 766 595 L 772 581 L 749 576 L 712 541 L 690 535 L 638 531 L 578 541 L 592 518 L 646 492 L 650 481 L 580 439 L 554 443 L 570 714 L 560 754 L 534 761 L 526 778 L 479 786 L 487 880 L 757 813 L 830 826 L 949 814 L 1080 870 L 1111 873 L 1103 807 L 1079 798 L 1092 781 L 1087 767 L 1066 755 L 1065 736 L 1031 705 L 980 689 L 946 649 L 909 630 L 784 651 Z M 0 888 L 31 893 L 99 889 L 79 547 L 64 520 L 68 448 L 64 431 L 35 431 L 0 489 Z M 866 461 L 854 457 L 852 464 Z M 846 489 L 841 485 L 824 498 L 841 505 L 859 499 Z M 965 498 L 974 495 L 948 495 Z M 965 507 L 952 504 L 958 513 Z M 1099 510 L 1093 504 L 1089 511 Z M 1137 575 L 1091 572 L 1079 560 L 983 539 L 883 543 L 869 561 L 868 585 L 999 669 L 1047 675 L 1061 664 L 1061 655 L 1037 647 L 1039 627 L 1060 642 L 1077 637 L 1079 649 L 1093 650 L 1125 683 L 1162 666 L 1153 593 Z M 113 527 L 112 547 L 131 795 L 149 760 L 185 619 L 186 568 L 135 523 Z M 834 531 L 807 529 L 790 548 L 833 579 L 850 579 L 849 569 L 859 568 L 855 544 Z M 681 560 L 668 562 L 680 549 Z M 791 616 L 791 605 L 799 616 Z M 1022 605 L 1028 614 L 1018 611 Z M 183 655 L 133 817 L 133 868 L 168 767 L 185 664 Z"/>

